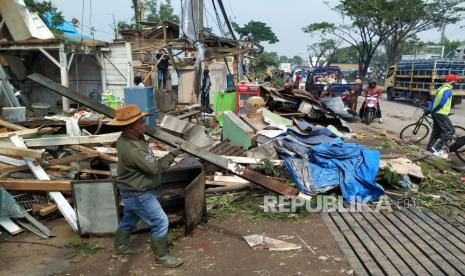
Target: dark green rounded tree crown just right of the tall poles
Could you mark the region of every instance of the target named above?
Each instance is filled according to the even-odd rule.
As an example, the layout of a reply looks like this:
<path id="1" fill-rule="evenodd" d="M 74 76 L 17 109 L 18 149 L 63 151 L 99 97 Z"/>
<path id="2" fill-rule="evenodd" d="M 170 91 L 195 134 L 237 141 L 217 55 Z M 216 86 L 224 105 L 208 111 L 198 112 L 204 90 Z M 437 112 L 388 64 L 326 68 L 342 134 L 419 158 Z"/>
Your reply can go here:
<path id="1" fill-rule="evenodd" d="M 250 38 L 258 43 L 268 42 L 270 44 L 279 42 L 276 34 L 271 30 L 271 27 L 267 26 L 264 22 L 251 20 L 243 27 L 240 27 L 235 22 L 232 22 L 232 25 L 234 30 L 239 34 L 239 39 Z"/>

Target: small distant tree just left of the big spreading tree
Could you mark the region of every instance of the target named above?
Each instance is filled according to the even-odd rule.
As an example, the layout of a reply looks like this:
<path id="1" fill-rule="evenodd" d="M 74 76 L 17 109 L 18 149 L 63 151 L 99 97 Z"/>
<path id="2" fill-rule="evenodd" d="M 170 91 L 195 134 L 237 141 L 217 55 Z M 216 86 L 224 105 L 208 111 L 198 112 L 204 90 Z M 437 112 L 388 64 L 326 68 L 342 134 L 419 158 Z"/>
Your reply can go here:
<path id="1" fill-rule="evenodd" d="M 321 61 L 326 60 L 327 65 L 331 65 L 334 60 L 334 55 L 339 47 L 339 42 L 334 39 L 323 38 L 321 41 L 307 46 L 308 58 L 310 66 L 317 67 L 321 65 Z"/>

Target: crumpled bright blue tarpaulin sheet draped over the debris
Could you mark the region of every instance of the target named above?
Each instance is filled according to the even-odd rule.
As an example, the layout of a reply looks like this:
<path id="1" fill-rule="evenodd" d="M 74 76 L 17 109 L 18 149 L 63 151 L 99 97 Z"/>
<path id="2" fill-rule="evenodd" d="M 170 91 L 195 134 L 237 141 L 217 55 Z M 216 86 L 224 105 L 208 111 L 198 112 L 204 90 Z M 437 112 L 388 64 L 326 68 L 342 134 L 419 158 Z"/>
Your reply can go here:
<path id="1" fill-rule="evenodd" d="M 307 158 L 305 166 L 292 158 L 285 161 L 306 194 L 325 192 L 337 186 L 349 202 L 372 201 L 384 194 L 384 189 L 374 181 L 379 169 L 379 151 L 337 138 L 329 144 L 314 146 Z"/>

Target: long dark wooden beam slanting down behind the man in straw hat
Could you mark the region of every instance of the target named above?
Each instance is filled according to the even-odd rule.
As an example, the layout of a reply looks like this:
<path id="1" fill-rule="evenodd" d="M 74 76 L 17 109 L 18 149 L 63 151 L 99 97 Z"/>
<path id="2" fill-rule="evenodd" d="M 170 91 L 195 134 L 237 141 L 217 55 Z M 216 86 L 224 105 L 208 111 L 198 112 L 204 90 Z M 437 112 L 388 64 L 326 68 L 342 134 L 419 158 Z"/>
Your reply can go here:
<path id="1" fill-rule="evenodd" d="M 77 92 L 72 92 L 69 88 L 66 88 L 60 85 L 59 83 L 54 82 L 40 74 L 37 74 L 37 73 L 31 74 L 28 76 L 28 79 L 57 92 L 61 96 L 64 96 L 68 99 L 72 99 L 74 102 L 85 105 L 93 109 L 94 111 L 97 111 L 107 117 L 114 118 L 116 115 L 116 112 L 114 109 L 104 104 L 101 104 L 97 101 L 94 101 L 91 98 L 80 95 Z M 287 196 L 296 196 L 299 194 L 299 190 L 292 188 L 292 187 L 288 187 L 285 183 L 281 181 L 272 179 L 256 171 L 248 169 L 240 164 L 227 160 L 219 155 L 213 154 L 207 150 L 196 147 L 192 143 L 189 143 L 188 141 L 185 141 L 185 140 L 181 140 L 178 137 L 171 135 L 167 132 L 164 132 L 160 129 L 157 129 L 154 126 L 147 126 L 145 130 L 145 134 L 147 134 L 148 136 L 154 139 L 160 140 L 168 145 L 175 146 L 175 147 L 177 146 L 177 142 L 180 141 L 182 142 L 181 144 L 182 151 L 187 152 L 207 162 L 210 162 L 222 169 L 228 170 L 239 177 L 242 177 L 251 182 L 254 182 L 278 194 L 287 195 Z"/>

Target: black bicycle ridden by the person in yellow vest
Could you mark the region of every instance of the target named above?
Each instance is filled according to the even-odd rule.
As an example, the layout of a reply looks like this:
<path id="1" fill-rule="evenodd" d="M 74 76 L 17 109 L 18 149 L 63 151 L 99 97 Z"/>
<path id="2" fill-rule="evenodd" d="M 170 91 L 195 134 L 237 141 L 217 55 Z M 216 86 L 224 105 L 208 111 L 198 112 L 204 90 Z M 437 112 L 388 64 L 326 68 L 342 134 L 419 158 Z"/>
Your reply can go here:
<path id="1" fill-rule="evenodd" d="M 449 116 L 452 115 L 454 114 L 449 114 Z M 433 118 L 431 118 L 430 114 L 423 112 L 423 115 L 418 119 L 418 121 L 409 124 L 402 129 L 400 132 L 400 139 L 405 142 L 417 144 L 428 137 L 431 128 L 433 128 Z M 455 133 L 452 137 L 451 145 L 455 144 L 459 138 L 465 137 L 465 128 L 461 126 L 454 126 L 454 129 Z M 454 152 L 462 162 L 465 162 L 465 147 L 454 149 Z"/>

